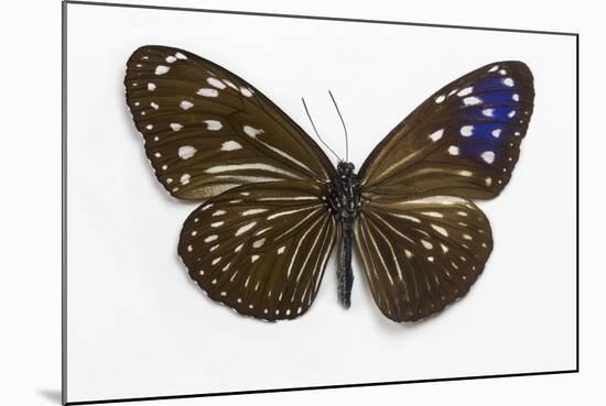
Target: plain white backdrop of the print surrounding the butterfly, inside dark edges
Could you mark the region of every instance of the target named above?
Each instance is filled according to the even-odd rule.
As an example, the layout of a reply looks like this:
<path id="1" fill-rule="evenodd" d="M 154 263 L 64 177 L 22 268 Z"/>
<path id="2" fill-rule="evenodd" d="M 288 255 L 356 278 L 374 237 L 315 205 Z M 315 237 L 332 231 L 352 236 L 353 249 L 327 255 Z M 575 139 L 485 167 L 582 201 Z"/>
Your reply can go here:
<path id="1" fill-rule="evenodd" d="M 68 400 L 575 367 L 574 37 L 67 10 Z M 342 150 L 331 88 L 358 166 L 450 80 L 524 61 L 537 107 L 512 182 L 480 205 L 495 238 L 485 275 L 459 304 L 411 326 L 381 316 L 358 266 L 354 306 L 343 311 L 334 263 L 294 322 L 244 319 L 208 300 L 175 254 L 197 205 L 163 191 L 125 103 L 125 63 L 143 44 L 181 46 L 228 67 L 309 128 L 306 96 L 325 141 Z M 545 232 L 555 219 L 558 234 Z"/>

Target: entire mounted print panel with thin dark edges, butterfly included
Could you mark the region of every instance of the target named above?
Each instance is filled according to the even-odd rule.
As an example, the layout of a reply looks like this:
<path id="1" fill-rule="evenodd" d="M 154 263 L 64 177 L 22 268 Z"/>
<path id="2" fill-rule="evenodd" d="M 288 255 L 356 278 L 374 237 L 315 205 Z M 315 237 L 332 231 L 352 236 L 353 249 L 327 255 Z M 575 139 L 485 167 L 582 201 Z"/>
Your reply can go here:
<path id="1" fill-rule="evenodd" d="M 576 367 L 575 36 L 66 9 L 67 402 Z"/>

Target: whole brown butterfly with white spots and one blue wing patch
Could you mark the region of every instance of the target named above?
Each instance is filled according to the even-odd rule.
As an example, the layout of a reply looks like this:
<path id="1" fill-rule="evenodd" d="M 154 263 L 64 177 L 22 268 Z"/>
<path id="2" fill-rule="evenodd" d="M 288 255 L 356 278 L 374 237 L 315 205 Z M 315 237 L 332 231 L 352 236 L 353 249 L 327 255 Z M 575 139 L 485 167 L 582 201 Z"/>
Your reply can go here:
<path id="1" fill-rule="evenodd" d="M 421 103 L 356 173 L 252 85 L 193 53 L 142 46 L 125 86 L 158 180 L 201 201 L 178 241 L 190 276 L 212 299 L 271 321 L 307 311 L 335 245 L 345 307 L 354 246 L 393 321 L 462 298 L 493 250 L 470 199 L 508 184 L 534 99 L 522 62 L 483 66 Z"/>

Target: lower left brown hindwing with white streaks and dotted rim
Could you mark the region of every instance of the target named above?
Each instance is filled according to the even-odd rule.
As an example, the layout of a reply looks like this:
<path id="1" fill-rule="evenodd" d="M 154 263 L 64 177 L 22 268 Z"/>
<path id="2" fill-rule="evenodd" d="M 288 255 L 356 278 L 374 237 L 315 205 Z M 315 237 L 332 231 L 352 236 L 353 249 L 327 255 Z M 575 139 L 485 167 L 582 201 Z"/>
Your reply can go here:
<path id="1" fill-rule="evenodd" d="M 212 299 L 256 318 L 293 319 L 314 300 L 335 237 L 320 186 L 245 185 L 192 212 L 178 254 Z"/>

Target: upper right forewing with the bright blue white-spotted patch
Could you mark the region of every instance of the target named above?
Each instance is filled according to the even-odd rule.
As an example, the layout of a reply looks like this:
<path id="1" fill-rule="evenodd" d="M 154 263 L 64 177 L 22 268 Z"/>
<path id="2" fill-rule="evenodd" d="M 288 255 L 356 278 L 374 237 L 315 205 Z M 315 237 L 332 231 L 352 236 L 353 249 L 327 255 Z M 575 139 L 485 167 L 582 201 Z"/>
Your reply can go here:
<path id="1" fill-rule="evenodd" d="M 433 94 L 375 149 L 364 187 L 398 196 L 493 198 L 511 177 L 532 114 L 521 62 L 486 65 Z"/>

